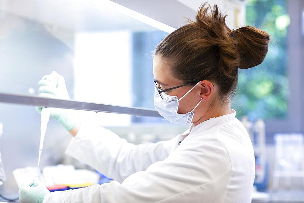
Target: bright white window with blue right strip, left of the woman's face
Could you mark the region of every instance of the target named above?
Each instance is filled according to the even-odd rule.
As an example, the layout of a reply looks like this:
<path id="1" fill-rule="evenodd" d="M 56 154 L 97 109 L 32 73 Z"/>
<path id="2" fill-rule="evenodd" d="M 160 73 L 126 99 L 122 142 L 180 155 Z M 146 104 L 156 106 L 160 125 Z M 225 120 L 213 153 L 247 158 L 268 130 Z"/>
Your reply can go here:
<path id="1" fill-rule="evenodd" d="M 153 53 L 167 34 L 154 29 L 78 33 L 75 99 L 154 109 Z M 119 125 L 167 122 L 159 117 L 100 115 L 97 117 L 105 125 L 117 125 L 117 119 Z"/>

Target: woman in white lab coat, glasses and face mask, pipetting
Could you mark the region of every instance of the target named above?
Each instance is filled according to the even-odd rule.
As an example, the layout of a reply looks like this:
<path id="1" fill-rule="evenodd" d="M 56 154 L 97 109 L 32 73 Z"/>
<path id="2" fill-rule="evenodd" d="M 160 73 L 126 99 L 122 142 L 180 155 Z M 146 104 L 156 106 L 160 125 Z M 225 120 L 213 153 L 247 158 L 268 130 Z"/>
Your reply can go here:
<path id="1" fill-rule="evenodd" d="M 216 5 L 203 4 L 195 22 L 158 44 L 153 62 L 155 108 L 190 128 L 169 141 L 133 145 L 53 109 L 51 116 L 74 137 L 67 154 L 115 181 L 53 193 L 23 184 L 20 202 L 251 202 L 254 151 L 229 102 L 238 68 L 262 63 L 269 37 L 252 26 L 230 30 Z M 39 85 L 40 96 L 69 99 L 56 72 Z"/>

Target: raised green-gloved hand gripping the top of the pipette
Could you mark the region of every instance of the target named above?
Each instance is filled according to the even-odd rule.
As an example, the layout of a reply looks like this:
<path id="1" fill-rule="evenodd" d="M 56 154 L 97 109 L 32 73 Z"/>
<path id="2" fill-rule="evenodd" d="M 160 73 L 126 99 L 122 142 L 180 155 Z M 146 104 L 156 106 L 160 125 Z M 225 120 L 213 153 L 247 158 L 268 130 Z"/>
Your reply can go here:
<path id="1" fill-rule="evenodd" d="M 55 71 L 50 75 L 43 76 L 38 85 L 38 96 L 70 100 L 63 76 Z M 42 108 L 36 107 L 36 110 L 41 113 Z M 74 111 L 70 109 L 51 108 L 50 117 L 61 123 L 67 131 L 71 130 L 78 122 L 75 119 Z"/>

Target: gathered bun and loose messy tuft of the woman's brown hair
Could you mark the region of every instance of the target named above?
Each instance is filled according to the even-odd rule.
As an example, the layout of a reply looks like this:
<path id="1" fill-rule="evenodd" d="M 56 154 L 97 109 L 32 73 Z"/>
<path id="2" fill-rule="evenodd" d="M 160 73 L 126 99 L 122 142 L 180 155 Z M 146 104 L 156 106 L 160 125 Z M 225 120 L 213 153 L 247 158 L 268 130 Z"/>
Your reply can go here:
<path id="1" fill-rule="evenodd" d="M 217 5 L 212 9 L 204 3 L 196 15 L 196 22 L 190 20 L 190 23 L 204 32 L 202 45 L 206 47 L 205 42 L 208 42 L 216 49 L 222 73 L 233 77 L 235 68 L 247 69 L 263 62 L 270 35 L 253 26 L 231 30 L 226 25 L 226 16 L 219 12 Z"/>

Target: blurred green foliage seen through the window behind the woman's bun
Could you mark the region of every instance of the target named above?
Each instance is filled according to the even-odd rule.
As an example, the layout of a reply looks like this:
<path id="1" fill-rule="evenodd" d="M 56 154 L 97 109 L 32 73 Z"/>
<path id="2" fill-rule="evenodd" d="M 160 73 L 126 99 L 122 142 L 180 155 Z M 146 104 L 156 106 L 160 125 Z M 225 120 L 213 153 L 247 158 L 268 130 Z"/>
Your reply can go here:
<path id="1" fill-rule="evenodd" d="M 290 19 L 286 8 L 286 0 L 250 0 L 247 4 L 247 25 L 268 32 L 271 42 L 262 64 L 239 70 L 238 88 L 232 102 L 237 117 L 282 119 L 287 115 L 287 27 Z"/>

